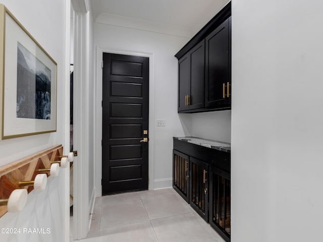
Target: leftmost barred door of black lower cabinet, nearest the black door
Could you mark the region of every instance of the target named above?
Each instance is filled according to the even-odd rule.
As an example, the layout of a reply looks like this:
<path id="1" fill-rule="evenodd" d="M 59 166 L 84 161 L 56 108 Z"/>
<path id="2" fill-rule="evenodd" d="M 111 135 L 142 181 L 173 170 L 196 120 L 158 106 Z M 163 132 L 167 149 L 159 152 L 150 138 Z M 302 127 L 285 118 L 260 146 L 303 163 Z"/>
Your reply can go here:
<path id="1" fill-rule="evenodd" d="M 173 188 L 189 202 L 189 156 L 173 151 Z"/>

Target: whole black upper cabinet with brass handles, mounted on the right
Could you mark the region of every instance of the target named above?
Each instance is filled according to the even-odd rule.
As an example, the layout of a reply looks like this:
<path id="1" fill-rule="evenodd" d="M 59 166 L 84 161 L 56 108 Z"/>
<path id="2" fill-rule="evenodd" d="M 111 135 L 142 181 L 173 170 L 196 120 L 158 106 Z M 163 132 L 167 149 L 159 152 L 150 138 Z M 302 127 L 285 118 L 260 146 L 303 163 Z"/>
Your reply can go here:
<path id="1" fill-rule="evenodd" d="M 231 109 L 231 2 L 175 56 L 178 112 Z"/>

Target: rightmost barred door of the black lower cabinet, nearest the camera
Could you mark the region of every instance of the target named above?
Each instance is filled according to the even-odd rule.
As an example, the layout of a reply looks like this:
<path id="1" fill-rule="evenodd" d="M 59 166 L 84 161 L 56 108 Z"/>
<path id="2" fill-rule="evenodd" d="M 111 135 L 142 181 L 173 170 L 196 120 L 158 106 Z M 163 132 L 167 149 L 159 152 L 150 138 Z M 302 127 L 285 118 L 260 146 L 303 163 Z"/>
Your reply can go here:
<path id="1" fill-rule="evenodd" d="M 231 234 L 231 182 L 230 174 L 210 166 L 209 224 L 226 241 Z"/>

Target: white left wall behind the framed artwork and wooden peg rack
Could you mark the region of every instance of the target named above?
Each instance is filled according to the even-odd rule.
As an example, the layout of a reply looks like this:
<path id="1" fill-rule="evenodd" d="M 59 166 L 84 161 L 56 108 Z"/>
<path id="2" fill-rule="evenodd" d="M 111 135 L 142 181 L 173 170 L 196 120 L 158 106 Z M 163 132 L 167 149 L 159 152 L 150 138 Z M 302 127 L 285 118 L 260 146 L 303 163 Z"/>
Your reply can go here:
<path id="1" fill-rule="evenodd" d="M 55 59 L 57 70 L 57 132 L 0 141 L 0 166 L 6 165 L 51 146 L 62 144 L 64 153 L 69 151 L 68 117 L 66 116 L 66 1 L 19 1 L 3 0 L 2 3 L 22 23 L 40 45 Z M 68 20 L 69 21 L 69 20 Z M 66 68 L 67 67 L 67 68 Z M 66 105 L 67 104 L 67 105 Z M 24 210 L 6 213 L 0 218 L 2 228 L 20 228 L 20 234 L 0 234 L 1 241 L 65 241 L 66 171 L 58 177 L 48 177 L 47 188 L 32 191 Z M 22 229 L 50 229 L 50 233 L 23 233 Z"/>

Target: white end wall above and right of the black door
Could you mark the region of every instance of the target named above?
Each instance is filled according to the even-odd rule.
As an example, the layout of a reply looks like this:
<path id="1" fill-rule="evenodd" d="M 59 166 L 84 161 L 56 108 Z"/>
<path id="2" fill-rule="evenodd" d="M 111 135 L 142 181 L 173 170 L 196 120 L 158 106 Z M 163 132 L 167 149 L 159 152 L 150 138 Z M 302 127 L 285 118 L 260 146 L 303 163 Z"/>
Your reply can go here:
<path id="1" fill-rule="evenodd" d="M 172 186 L 172 137 L 187 133 L 182 123 L 186 122 L 188 116 L 180 117 L 177 113 L 178 61 L 174 54 L 188 40 L 173 35 L 94 24 L 95 46 L 101 49 L 153 53 L 154 67 L 150 69 L 154 70 L 154 93 L 149 95 L 154 97 L 154 123 L 157 118 L 166 119 L 165 127 L 149 127 L 154 132 L 154 188 Z"/>

